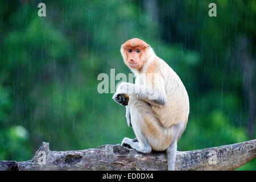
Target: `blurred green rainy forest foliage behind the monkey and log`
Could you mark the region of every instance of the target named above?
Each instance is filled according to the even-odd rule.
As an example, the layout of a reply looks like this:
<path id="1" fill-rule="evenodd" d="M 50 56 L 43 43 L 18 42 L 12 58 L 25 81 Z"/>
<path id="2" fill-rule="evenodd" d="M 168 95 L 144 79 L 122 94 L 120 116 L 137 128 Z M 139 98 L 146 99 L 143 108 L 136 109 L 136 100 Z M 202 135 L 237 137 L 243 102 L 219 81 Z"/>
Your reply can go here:
<path id="1" fill-rule="evenodd" d="M 255 60 L 253 0 L 214 1 L 214 18 L 210 1 L 156 1 L 158 16 L 147 1 L 44 1 L 42 18 L 39 2 L 0 2 L 0 160 L 31 159 L 42 141 L 80 150 L 134 137 L 125 109 L 97 92 L 98 74 L 130 73 L 119 48 L 134 37 L 150 43 L 188 90 L 178 150 L 250 139 L 235 55 L 246 35 Z M 255 170 L 256 161 L 240 169 Z"/>

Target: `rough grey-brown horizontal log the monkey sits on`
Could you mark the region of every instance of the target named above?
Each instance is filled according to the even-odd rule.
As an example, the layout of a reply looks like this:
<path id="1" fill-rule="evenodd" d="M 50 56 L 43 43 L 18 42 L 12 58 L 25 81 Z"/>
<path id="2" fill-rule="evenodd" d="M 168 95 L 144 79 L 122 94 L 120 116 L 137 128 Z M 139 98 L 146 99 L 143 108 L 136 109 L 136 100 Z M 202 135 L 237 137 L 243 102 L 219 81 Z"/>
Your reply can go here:
<path id="1" fill-rule="evenodd" d="M 176 170 L 234 170 L 256 158 L 256 140 L 177 152 Z M 167 170 L 166 154 L 141 154 L 106 144 L 80 151 L 51 151 L 43 142 L 26 162 L 0 161 L 0 170 Z"/>

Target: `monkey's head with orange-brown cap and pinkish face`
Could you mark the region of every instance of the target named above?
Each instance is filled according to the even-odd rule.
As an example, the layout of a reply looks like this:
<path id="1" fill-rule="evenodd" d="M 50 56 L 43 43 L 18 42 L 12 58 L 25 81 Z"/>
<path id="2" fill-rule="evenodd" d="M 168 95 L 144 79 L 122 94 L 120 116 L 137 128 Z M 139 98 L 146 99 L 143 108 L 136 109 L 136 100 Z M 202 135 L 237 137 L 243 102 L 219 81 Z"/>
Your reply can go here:
<path id="1" fill-rule="evenodd" d="M 127 40 L 121 46 L 121 54 L 125 64 L 131 68 L 139 71 L 143 64 L 147 61 L 152 49 L 141 39 L 133 38 Z"/>

